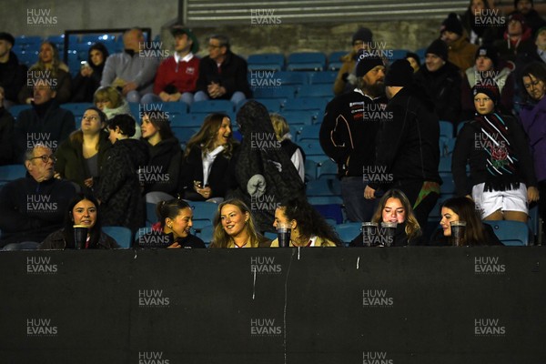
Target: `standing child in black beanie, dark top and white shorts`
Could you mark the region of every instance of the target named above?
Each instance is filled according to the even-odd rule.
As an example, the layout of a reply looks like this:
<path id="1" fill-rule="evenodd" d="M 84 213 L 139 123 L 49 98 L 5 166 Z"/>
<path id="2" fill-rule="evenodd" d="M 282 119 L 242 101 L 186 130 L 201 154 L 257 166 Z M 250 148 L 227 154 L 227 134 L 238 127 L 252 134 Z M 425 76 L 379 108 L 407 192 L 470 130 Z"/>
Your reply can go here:
<path id="1" fill-rule="evenodd" d="M 525 132 L 515 117 L 498 113 L 499 87 L 478 84 L 472 95 L 477 113 L 460 129 L 451 158 L 457 195 L 472 197 L 482 219 L 526 223 L 527 203 L 539 191 Z"/>

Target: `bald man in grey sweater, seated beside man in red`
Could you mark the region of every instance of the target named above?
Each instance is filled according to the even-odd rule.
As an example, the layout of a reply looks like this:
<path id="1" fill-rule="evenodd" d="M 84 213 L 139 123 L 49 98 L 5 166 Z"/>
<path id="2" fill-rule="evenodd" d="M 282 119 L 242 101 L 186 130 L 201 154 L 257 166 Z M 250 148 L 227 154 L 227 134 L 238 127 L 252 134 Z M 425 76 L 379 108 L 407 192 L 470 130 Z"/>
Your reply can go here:
<path id="1" fill-rule="evenodd" d="M 133 28 L 123 34 L 123 52 L 106 58 L 100 86 L 116 87 L 128 102 L 140 102 L 140 97 L 153 91 L 158 61 L 155 54 L 141 55 L 146 49 L 142 30 Z"/>

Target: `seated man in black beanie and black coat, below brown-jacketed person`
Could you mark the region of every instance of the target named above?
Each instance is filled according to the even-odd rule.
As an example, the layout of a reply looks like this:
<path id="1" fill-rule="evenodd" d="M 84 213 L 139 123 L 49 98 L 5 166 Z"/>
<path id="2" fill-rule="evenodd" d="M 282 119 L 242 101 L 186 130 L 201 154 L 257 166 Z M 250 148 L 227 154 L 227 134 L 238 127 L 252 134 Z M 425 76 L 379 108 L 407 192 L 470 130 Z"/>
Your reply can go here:
<path id="1" fill-rule="evenodd" d="M 415 80 L 434 101 L 440 120 L 456 125 L 460 120 L 459 68 L 447 60 L 447 45 L 434 40 L 426 50 L 425 66 L 415 74 Z"/>

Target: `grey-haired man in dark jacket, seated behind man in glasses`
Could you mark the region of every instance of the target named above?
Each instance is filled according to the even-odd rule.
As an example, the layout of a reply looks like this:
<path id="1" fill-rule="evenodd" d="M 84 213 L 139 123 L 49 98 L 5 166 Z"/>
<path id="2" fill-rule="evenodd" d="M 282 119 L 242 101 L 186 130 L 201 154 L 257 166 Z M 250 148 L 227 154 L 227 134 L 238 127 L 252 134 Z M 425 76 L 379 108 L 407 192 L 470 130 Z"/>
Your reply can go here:
<path id="1" fill-rule="evenodd" d="M 56 102 L 56 80 L 34 80 L 32 108 L 23 110 L 15 123 L 15 158 L 21 160 L 26 149 L 42 144 L 56 149 L 70 133 L 76 130 L 71 111 Z"/>

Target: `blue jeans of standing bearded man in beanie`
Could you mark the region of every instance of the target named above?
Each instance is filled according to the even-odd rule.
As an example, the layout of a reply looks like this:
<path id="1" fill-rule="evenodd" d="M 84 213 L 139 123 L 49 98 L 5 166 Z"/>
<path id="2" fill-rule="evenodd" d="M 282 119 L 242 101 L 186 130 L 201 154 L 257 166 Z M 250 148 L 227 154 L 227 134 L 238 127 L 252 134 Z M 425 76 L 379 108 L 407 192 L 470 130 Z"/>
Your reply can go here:
<path id="1" fill-rule="evenodd" d="M 341 178 L 341 198 L 349 221 L 371 221 L 375 207 L 379 205 L 379 199 L 364 198 L 364 188 L 367 185 L 362 177 Z"/>

